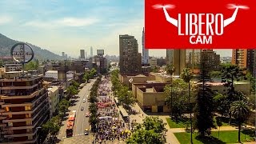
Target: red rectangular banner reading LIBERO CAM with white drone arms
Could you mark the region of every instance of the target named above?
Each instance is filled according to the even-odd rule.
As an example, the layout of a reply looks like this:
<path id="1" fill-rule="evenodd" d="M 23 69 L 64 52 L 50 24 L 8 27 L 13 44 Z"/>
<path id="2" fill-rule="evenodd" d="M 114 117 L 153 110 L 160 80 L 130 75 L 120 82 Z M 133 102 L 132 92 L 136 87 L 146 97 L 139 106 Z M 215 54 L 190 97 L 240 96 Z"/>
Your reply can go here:
<path id="1" fill-rule="evenodd" d="M 256 48 L 255 0 L 145 0 L 148 49 Z"/>

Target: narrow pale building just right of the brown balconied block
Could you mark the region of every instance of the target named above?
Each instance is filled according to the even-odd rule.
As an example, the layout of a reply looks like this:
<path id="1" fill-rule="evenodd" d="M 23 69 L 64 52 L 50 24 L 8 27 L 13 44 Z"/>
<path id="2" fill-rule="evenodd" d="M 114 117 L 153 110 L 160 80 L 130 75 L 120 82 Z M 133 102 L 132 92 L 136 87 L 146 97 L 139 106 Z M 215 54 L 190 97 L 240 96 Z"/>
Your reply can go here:
<path id="1" fill-rule="evenodd" d="M 48 98 L 50 103 L 50 118 L 52 118 L 58 109 L 59 93 L 58 86 L 51 86 L 48 88 Z"/>

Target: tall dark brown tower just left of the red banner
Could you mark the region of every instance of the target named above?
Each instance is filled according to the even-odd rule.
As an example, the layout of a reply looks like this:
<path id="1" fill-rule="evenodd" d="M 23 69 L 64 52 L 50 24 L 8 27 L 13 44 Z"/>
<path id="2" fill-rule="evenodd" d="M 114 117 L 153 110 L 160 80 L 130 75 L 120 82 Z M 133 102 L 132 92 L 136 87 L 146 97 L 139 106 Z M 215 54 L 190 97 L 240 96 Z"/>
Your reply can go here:
<path id="1" fill-rule="evenodd" d="M 138 57 L 138 41 L 134 36 L 119 35 L 119 65 L 121 74 L 140 74 L 142 71 L 142 59 Z"/>

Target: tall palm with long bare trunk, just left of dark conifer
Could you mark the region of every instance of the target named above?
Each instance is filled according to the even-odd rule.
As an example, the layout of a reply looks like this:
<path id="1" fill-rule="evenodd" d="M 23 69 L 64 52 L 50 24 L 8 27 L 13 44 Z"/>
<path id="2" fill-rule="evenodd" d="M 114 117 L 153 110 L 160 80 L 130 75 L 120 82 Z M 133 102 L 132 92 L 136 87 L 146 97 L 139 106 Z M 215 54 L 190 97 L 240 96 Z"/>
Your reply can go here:
<path id="1" fill-rule="evenodd" d="M 190 70 L 190 68 L 186 68 L 186 69 L 183 69 L 182 70 L 182 74 L 181 74 L 181 78 L 186 82 L 188 83 L 189 85 L 189 93 L 188 93 L 188 99 L 189 99 L 189 110 L 190 110 L 190 142 L 193 143 L 193 138 L 192 138 L 192 112 L 191 112 L 191 105 L 190 105 L 190 81 L 191 79 L 193 78 L 193 74 Z"/>

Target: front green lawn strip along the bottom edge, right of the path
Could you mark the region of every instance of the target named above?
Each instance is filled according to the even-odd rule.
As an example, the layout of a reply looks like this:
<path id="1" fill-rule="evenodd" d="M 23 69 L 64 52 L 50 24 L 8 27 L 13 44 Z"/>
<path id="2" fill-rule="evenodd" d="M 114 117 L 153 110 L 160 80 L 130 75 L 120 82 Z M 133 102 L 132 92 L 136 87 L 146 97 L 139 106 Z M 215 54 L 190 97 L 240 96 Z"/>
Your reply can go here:
<path id="1" fill-rule="evenodd" d="M 190 143 L 190 133 L 174 133 L 176 138 L 181 144 L 188 144 Z M 224 143 L 238 143 L 238 131 L 220 131 L 219 138 L 218 138 L 218 131 L 212 132 L 212 137 L 210 138 L 198 138 L 197 134 L 193 134 L 193 143 L 194 144 L 224 144 Z M 250 136 L 251 135 L 251 136 Z M 246 142 L 245 134 L 241 132 L 241 142 Z M 246 134 L 246 139 L 253 140 L 252 134 Z"/>

